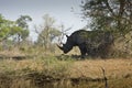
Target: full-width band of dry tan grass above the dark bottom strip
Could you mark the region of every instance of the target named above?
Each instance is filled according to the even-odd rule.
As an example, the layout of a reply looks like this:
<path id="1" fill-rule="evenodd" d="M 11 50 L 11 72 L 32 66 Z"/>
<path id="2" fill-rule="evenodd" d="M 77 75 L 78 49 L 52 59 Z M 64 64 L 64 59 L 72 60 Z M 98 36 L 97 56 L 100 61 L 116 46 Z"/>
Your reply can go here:
<path id="1" fill-rule="evenodd" d="M 109 78 L 121 78 L 132 75 L 132 58 L 111 58 L 111 59 L 85 59 L 85 61 L 58 61 L 56 57 L 34 58 L 34 59 L 2 59 L 0 61 L 0 72 L 6 70 L 35 70 L 44 72 L 53 70 L 67 66 L 67 70 L 70 77 L 90 77 L 100 78 L 102 77 L 101 67 L 105 68 L 106 75 Z M 70 66 L 70 67 L 69 67 Z"/>

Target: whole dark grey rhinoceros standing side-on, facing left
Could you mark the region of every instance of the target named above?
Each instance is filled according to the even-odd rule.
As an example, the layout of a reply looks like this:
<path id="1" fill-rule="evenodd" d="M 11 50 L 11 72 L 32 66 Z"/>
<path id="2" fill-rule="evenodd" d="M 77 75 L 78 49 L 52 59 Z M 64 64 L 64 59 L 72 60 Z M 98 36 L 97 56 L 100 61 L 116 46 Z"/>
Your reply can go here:
<path id="1" fill-rule="evenodd" d="M 58 47 L 66 54 L 74 46 L 78 46 L 84 58 L 86 55 L 103 56 L 112 42 L 113 36 L 110 32 L 79 30 L 67 36 L 66 43 Z"/>

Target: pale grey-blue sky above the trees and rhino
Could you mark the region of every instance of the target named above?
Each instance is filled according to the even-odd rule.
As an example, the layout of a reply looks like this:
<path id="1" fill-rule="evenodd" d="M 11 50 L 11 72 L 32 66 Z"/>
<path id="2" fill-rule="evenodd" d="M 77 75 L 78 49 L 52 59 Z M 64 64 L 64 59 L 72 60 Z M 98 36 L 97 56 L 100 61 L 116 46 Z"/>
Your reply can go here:
<path id="1" fill-rule="evenodd" d="M 0 0 L 0 13 L 9 20 L 16 20 L 20 15 L 30 15 L 30 36 L 36 40 L 34 24 L 43 23 L 42 16 L 50 14 L 57 24 L 64 24 L 65 29 L 72 28 L 69 33 L 86 25 L 80 15 L 81 0 Z M 73 12 L 74 10 L 74 12 Z"/>

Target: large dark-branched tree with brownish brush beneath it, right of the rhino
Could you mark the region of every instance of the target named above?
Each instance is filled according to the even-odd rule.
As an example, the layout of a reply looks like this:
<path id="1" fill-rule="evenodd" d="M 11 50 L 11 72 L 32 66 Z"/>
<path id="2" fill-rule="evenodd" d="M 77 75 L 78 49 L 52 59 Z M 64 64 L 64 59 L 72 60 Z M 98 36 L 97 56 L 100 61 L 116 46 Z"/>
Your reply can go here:
<path id="1" fill-rule="evenodd" d="M 110 56 L 132 56 L 132 0 L 81 0 L 81 10 L 88 28 L 114 35 Z"/>

